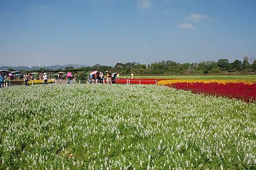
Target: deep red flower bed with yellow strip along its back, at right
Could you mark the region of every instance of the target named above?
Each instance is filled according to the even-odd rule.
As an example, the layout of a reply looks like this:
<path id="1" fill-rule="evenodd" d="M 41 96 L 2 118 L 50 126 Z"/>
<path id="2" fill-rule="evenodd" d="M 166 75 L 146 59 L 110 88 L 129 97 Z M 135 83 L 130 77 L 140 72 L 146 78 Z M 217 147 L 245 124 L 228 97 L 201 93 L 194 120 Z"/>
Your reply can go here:
<path id="1" fill-rule="evenodd" d="M 158 84 L 199 94 L 225 96 L 246 102 L 256 101 L 256 83 L 252 81 L 173 79 L 160 80 Z"/>

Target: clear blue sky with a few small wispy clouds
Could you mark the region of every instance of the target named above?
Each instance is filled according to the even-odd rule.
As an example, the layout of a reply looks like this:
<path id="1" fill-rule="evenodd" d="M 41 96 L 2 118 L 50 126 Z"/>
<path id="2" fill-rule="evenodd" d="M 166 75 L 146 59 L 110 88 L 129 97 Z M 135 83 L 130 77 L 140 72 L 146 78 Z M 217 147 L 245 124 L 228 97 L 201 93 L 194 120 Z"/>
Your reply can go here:
<path id="1" fill-rule="evenodd" d="M 0 65 L 256 57 L 255 0 L 0 0 Z"/>

